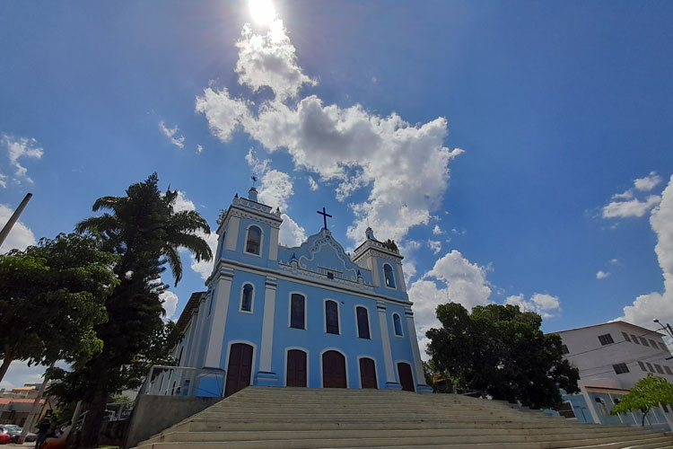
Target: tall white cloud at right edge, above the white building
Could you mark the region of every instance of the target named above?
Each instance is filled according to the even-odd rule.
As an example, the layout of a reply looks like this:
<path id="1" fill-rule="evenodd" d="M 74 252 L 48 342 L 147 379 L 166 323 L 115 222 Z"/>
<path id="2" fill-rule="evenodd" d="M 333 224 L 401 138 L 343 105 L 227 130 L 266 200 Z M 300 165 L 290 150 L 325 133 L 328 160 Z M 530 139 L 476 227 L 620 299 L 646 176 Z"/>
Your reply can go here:
<path id="1" fill-rule="evenodd" d="M 663 293 L 652 292 L 638 296 L 633 305 L 624 308 L 624 316 L 618 320 L 632 322 L 650 328 L 652 319 L 673 321 L 673 176 L 661 194 L 661 202 L 651 212 L 650 225 L 657 234 L 657 254 L 664 277 Z"/>

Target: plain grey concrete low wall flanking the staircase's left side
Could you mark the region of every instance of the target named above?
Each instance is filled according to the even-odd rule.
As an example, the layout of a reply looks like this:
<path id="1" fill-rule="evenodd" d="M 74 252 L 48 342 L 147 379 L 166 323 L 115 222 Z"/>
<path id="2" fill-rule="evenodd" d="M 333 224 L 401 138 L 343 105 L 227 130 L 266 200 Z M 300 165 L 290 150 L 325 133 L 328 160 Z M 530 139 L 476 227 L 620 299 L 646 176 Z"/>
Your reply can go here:
<path id="1" fill-rule="evenodd" d="M 223 398 L 193 396 L 141 396 L 135 402 L 128 425 L 126 447 L 134 447 L 150 436 L 222 401 Z"/>

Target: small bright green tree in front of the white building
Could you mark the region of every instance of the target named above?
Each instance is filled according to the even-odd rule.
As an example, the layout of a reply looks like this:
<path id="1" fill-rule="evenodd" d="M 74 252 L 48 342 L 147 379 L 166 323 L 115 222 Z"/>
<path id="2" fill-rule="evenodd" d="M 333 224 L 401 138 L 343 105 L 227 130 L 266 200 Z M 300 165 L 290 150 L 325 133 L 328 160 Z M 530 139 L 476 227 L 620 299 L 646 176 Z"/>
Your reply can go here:
<path id="1" fill-rule="evenodd" d="M 641 426 L 644 426 L 645 417 L 652 407 L 660 404 L 673 404 L 673 384 L 663 377 L 649 373 L 647 377 L 643 377 L 634 385 L 634 388 L 612 408 L 610 413 L 616 415 L 631 410 L 641 410 Z"/>

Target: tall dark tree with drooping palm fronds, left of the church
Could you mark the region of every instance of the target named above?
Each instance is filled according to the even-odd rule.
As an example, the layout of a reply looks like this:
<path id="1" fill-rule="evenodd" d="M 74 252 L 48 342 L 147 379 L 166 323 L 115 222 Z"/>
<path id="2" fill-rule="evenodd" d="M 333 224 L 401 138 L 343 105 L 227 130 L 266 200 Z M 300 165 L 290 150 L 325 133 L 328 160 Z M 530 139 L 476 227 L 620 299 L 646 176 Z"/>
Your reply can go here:
<path id="1" fill-rule="evenodd" d="M 87 404 L 87 425 L 82 445 L 93 447 L 110 394 L 140 385 L 149 365 L 170 363 L 169 348 L 177 341 L 172 323 L 164 325 L 160 294 L 161 274 L 170 267 L 176 285 L 182 277 L 179 249 L 191 251 L 196 260 L 211 260 L 210 248 L 197 231 L 210 233 L 205 219 L 195 211 L 173 209 L 177 190 L 165 194 L 153 173 L 127 189 L 126 197 L 103 197 L 93 211 L 105 210 L 77 225 L 92 233 L 103 247 L 118 255 L 115 266 L 120 283 L 106 302 L 109 320 L 96 327 L 103 341 L 101 354 L 73 372 L 60 371 L 61 382 L 51 392 L 65 401 Z M 170 358 L 170 357 L 169 357 Z"/>

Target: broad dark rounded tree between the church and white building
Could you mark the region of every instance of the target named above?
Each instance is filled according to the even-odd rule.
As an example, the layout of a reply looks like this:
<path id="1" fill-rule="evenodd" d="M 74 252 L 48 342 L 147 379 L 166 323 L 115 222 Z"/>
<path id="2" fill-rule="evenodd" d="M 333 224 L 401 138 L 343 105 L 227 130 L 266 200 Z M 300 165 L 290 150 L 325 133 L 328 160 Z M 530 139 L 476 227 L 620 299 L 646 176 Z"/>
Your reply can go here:
<path id="1" fill-rule="evenodd" d="M 537 313 L 489 304 L 470 314 L 450 303 L 437 307 L 437 318 L 442 327 L 426 332 L 427 352 L 454 385 L 534 409 L 559 407 L 560 389 L 579 391 L 579 372 L 564 359 L 561 338 L 539 330 Z"/>

